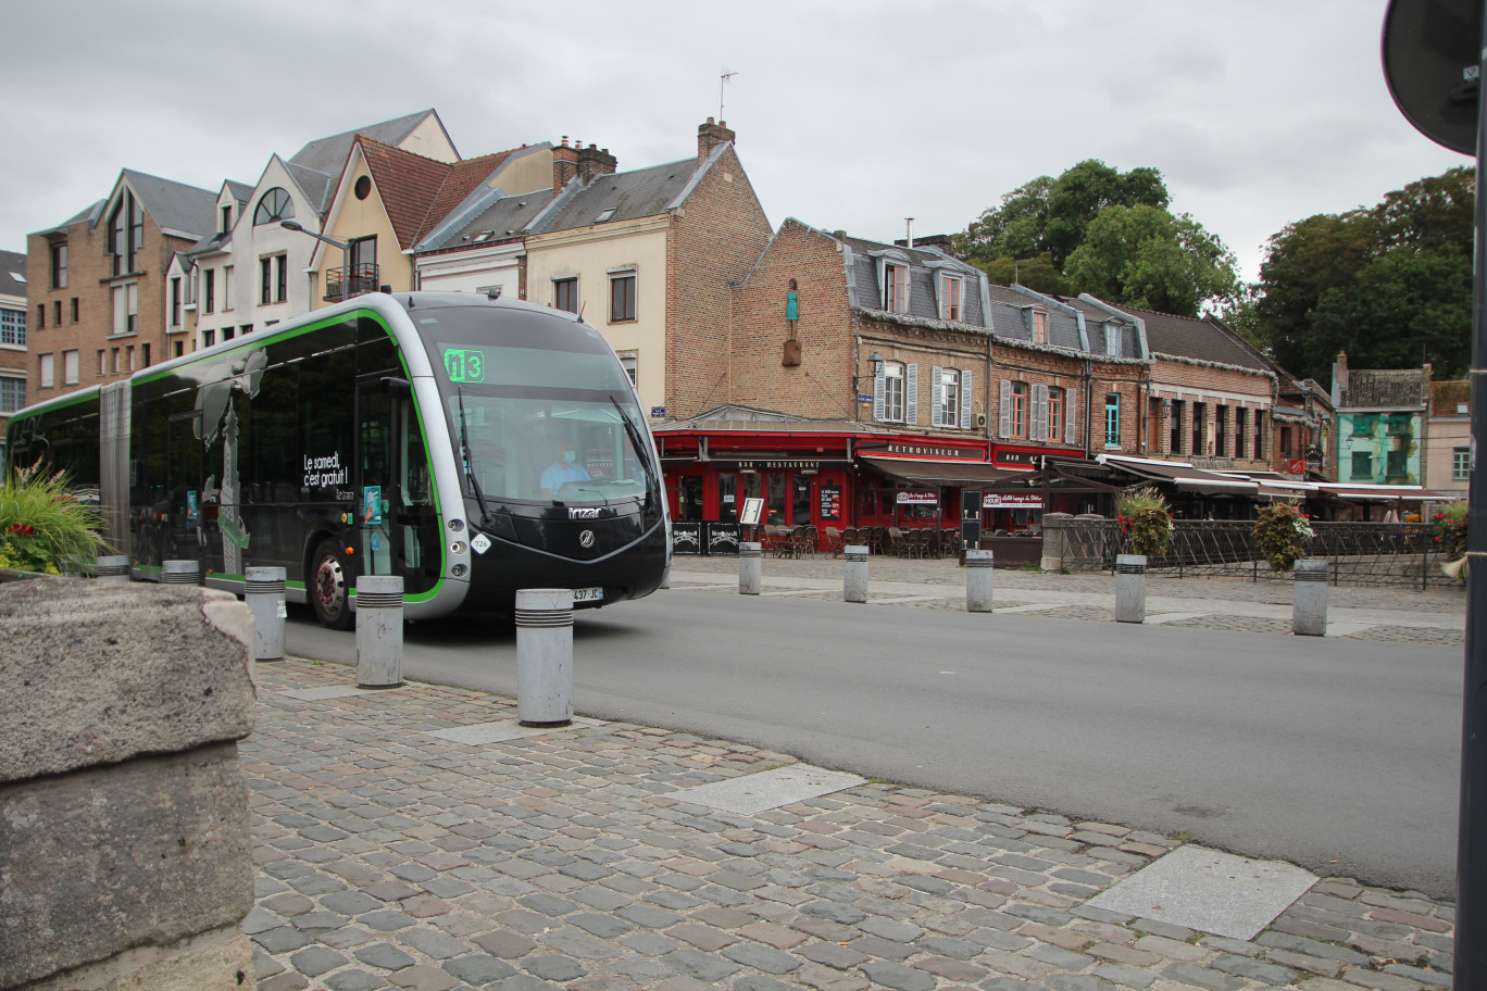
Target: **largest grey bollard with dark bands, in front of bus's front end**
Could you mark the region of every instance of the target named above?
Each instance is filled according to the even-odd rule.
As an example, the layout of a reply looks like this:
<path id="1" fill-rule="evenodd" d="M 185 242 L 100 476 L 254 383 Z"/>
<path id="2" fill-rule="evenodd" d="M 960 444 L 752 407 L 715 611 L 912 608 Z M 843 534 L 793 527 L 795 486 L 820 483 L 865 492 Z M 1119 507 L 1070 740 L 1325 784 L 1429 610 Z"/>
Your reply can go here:
<path id="1" fill-rule="evenodd" d="M 516 718 L 523 727 L 572 722 L 572 591 L 516 591 Z"/>

